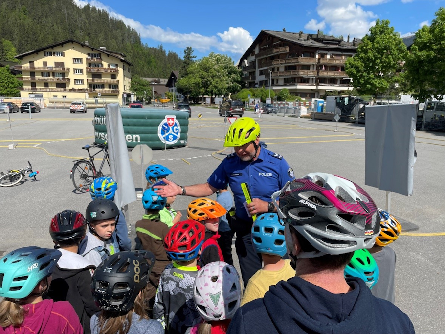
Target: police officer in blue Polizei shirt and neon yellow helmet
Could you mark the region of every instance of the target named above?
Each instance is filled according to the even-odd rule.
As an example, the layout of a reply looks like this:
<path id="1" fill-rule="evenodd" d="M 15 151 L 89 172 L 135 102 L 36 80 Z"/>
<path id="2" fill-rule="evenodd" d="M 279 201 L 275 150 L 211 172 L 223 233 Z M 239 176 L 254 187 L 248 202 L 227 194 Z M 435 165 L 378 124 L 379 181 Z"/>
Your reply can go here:
<path id="1" fill-rule="evenodd" d="M 210 196 L 223 189 L 227 182 L 233 192 L 236 214 L 232 217 L 232 228 L 236 232 L 235 248 L 239 258 L 244 285 L 261 269 L 261 257 L 255 252 L 250 239 L 253 224 L 251 215 L 274 212 L 276 209 L 270 195 L 294 179 L 294 172 L 284 158 L 267 150 L 260 144 L 260 126 L 250 117 L 236 120 L 225 137 L 224 147 L 234 147 L 235 153 L 228 155 L 206 183 L 179 186 L 164 179 L 166 186 L 156 191 L 163 197 L 188 195 Z M 246 204 L 241 183 L 247 182 L 252 202 Z"/>

